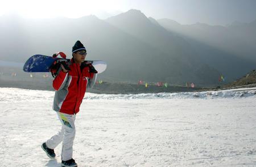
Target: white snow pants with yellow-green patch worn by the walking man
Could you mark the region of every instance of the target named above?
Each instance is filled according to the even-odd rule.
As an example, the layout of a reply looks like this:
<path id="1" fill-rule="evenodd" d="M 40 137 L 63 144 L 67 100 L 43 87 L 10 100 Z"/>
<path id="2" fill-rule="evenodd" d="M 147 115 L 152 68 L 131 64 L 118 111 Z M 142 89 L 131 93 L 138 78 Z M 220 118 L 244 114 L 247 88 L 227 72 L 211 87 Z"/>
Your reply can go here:
<path id="1" fill-rule="evenodd" d="M 61 160 L 67 161 L 73 156 L 73 141 L 76 135 L 75 119 L 76 114 L 69 115 L 57 112 L 57 115 L 62 124 L 61 130 L 51 139 L 46 141 L 48 148 L 54 149 L 62 142 Z"/>

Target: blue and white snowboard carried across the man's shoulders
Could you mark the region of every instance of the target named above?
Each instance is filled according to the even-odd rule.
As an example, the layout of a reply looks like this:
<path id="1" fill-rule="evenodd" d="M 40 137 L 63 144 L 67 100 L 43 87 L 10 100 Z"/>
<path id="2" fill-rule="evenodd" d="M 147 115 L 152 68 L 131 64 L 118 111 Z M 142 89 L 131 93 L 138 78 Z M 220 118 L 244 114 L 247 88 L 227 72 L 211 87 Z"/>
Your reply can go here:
<path id="1" fill-rule="evenodd" d="M 50 67 L 60 57 L 51 57 L 48 55 L 36 54 L 32 55 L 23 66 L 25 72 L 50 72 Z M 67 59 L 70 61 L 70 59 Z M 106 70 L 106 62 L 104 61 L 85 61 L 92 63 L 93 67 L 98 71 L 98 74 Z"/>

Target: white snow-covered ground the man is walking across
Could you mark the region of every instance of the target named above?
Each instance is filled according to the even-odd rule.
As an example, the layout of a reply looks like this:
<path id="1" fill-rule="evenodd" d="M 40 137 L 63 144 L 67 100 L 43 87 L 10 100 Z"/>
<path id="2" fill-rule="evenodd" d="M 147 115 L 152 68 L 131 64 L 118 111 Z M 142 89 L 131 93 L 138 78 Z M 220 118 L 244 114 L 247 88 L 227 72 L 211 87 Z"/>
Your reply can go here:
<path id="1" fill-rule="evenodd" d="M 79 166 L 256 166 L 256 90 L 97 95 L 76 118 Z M 0 166 L 60 166 L 54 92 L 0 88 Z"/>

